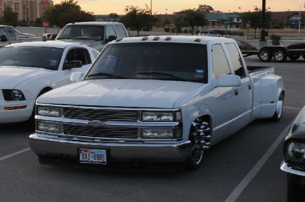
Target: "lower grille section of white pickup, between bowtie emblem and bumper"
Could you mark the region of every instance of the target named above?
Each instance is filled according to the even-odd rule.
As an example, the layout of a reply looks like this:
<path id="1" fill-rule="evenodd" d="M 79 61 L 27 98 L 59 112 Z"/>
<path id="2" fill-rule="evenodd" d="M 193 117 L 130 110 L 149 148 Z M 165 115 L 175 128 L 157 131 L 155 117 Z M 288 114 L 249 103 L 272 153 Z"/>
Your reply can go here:
<path id="1" fill-rule="evenodd" d="M 64 124 L 64 134 L 97 138 L 138 138 L 137 128 L 93 127 Z"/>

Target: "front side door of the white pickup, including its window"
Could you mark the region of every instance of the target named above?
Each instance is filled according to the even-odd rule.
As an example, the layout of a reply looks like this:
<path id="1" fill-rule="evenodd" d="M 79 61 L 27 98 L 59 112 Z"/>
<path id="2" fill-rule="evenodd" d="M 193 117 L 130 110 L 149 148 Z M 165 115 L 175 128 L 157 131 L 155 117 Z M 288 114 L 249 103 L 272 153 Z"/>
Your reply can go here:
<path id="1" fill-rule="evenodd" d="M 221 44 L 211 46 L 212 66 L 214 78 L 219 78 L 220 74 L 231 74 L 229 62 Z M 214 100 L 211 110 L 214 112 L 214 127 L 216 136 L 214 138 L 223 139 L 237 131 L 238 123 L 238 96 L 235 92 L 237 87 L 216 87 L 214 89 Z M 218 140 L 215 140 L 218 141 Z"/>

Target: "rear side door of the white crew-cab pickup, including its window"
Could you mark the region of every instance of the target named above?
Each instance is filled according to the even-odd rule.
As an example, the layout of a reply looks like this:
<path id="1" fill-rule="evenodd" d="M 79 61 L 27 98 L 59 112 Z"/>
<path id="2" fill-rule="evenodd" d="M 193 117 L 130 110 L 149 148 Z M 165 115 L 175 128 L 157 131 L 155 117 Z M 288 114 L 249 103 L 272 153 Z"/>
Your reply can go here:
<path id="1" fill-rule="evenodd" d="M 237 87 L 238 97 L 238 128 L 249 124 L 252 116 L 252 85 L 249 76 L 246 74 L 246 68 L 242 58 L 234 43 L 226 43 L 225 47 L 230 56 L 234 73 L 240 76 L 241 86 Z"/>

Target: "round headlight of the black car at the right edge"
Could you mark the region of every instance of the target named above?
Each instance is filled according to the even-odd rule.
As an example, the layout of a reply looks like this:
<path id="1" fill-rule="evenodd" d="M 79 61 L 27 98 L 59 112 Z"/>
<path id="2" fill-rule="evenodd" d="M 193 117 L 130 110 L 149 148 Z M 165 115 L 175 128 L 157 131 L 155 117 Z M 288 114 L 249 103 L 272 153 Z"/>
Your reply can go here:
<path id="1" fill-rule="evenodd" d="M 305 160 L 305 141 L 304 140 L 292 140 L 287 145 L 287 155 L 294 161 Z"/>

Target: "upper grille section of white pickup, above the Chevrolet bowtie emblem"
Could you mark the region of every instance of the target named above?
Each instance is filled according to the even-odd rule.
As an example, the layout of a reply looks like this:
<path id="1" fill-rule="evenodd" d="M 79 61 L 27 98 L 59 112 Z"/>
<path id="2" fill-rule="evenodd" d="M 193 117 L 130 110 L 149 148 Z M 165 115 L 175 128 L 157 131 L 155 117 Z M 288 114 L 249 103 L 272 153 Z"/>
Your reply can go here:
<path id="1" fill-rule="evenodd" d="M 64 107 L 64 116 L 84 120 L 125 120 L 135 122 L 138 118 L 138 112 L 137 110 Z"/>

